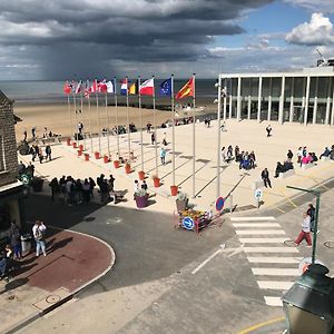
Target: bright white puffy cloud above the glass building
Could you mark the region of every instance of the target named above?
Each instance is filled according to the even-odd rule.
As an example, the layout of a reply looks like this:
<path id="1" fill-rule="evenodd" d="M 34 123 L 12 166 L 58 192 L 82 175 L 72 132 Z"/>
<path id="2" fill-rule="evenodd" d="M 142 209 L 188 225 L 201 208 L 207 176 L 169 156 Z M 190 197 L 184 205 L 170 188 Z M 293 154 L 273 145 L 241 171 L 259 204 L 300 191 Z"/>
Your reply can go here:
<path id="1" fill-rule="evenodd" d="M 334 42 L 333 24 L 322 13 L 313 13 L 310 22 L 295 27 L 285 39 L 295 45 L 331 45 Z"/>

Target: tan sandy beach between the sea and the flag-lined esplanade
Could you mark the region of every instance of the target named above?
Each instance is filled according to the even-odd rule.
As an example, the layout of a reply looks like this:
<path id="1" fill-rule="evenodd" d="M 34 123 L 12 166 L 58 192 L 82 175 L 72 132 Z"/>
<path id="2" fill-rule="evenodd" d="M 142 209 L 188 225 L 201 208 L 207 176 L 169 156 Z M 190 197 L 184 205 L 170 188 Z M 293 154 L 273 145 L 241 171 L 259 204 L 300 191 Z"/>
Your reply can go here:
<path id="1" fill-rule="evenodd" d="M 99 128 L 112 128 L 116 125 L 117 114 L 118 125 L 127 124 L 126 107 L 108 106 L 106 109 L 106 106 L 100 105 L 97 110 L 96 105 L 92 105 L 89 111 L 88 106 L 84 105 L 82 111 L 77 114 L 72 105 L 70 105 L 69 111 L 67 104 L 14 105 L 13 109 L 14 114 L 22 119 L 16 125 L 17 140 L 22 140 L 24 130 L 27 130 L 28 138 L 30 138 L 32 127 L 36 127 L 38 137 L 42 137 L 45 127 L 48 128 L 48 131 L 67 137 L 77 130 L 79 121 L 82 121 L 86 131 L 97 132 Z M 144 127 L 148 121 L 154 124 L 154 110 L 141 109 L 141 112 Z M 129 121 L 132 121 L 139 128 L 140 109 L 129 107 L 128 114 Z M 170 118 L 170 111 L 156 110 L 156 124 L 158 126 Z"/>

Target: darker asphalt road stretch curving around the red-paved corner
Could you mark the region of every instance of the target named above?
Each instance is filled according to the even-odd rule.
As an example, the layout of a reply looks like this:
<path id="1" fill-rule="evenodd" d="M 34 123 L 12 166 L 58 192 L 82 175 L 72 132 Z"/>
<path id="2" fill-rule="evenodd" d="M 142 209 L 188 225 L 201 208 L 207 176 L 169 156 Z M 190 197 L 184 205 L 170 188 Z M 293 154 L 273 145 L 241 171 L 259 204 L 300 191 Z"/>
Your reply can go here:
<path id="1" fill-rule="evenodd" d="M 28 220 L 82 232 L 112 246 L 116 264 L 111 272 L 81 293 L 99 293 L 168 277 L 230 238 L 230 227 L 212 227 L 196 235 L 174 228 L 174 217 L 148 210 L 81 204 L 67 207 L 50 197 L 27 199 Z"/>

